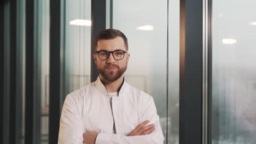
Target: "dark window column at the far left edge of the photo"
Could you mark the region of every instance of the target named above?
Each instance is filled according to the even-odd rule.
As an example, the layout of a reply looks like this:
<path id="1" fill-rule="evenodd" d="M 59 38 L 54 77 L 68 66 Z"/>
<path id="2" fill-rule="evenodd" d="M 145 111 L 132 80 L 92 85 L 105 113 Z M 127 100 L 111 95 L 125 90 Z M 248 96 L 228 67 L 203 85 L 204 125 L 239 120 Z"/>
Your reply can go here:
<path id="1" fill-rule="evenodd" d="M 15 1 L 6 1 L 1 5 L 1 133 L 2 143 L 14 143 L 15 139 L 15 53 L 16 53 L 16 8 Z M 3 4 L 3 2 L 1 2 Z M 14 27 L 14 28 L 13 28 Z M 14 101 L 13 101 L 14 100 Z M 12 125 L 12 123 L 14 123 Z M 11 134 L 14 138 L 11 137 Z"/>

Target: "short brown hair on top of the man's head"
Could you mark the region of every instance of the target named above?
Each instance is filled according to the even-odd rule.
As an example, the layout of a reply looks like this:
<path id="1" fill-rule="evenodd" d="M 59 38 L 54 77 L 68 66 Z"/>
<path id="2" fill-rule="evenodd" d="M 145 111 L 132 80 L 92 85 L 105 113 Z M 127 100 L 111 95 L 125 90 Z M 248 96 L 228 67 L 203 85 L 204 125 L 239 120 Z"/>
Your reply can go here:
<path id="1" fill-rule="evenodd" d="M 114 39 L 116 37 L 123 38 L 124 43 L 125 43 L 125 47 L 126 47 L 126 51 L 128 51 L 128 40 L 127 40 L 126 36 L 124 35 L 124 33 L 119 31 L 118 29 L 112 29 L 112 28 L 105 29 L 104 31 L 100 32 L 97 35 L 96 41 L 95 41 L 95 51 L 96 51 L 97 43 L 98 43 L 99 40 Z"/>

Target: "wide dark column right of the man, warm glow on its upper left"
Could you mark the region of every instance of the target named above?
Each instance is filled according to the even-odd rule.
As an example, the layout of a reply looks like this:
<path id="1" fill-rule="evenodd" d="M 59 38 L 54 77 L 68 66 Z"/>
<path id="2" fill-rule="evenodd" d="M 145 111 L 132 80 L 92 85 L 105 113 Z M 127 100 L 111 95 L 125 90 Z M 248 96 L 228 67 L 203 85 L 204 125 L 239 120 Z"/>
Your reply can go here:
<path id="1" fill-rule="evenodd" d="M 202 1 L 180 5 L 179 143 L 202 143 Z"/>

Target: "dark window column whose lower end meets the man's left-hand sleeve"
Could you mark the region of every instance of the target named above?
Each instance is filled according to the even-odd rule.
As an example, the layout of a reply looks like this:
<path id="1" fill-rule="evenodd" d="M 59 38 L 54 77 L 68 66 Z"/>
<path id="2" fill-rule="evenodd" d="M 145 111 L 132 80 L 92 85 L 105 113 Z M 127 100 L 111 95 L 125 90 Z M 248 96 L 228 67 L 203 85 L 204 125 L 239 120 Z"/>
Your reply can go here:
<path id="1" fill-rule="evenodd" d="M 61 8 L 63 1 L 50 1 L 50 96 L 49 143 L 58 142 L 61 101 Z M 63 61 L 63 59 L 62 59 Z"/>

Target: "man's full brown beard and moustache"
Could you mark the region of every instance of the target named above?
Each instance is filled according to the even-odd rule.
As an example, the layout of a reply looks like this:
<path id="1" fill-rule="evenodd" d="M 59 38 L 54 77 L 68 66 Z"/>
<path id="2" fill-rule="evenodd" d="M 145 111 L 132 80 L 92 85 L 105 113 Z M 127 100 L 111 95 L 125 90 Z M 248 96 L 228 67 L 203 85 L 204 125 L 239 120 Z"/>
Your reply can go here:
<path id="1" fill-rule="evenodd" d="M 106 71 L 105 69 L 108 67 L 115 67 L 117 68 L 117 71 L 116 70 Z M 120 68 L 119 65 L 113 65 L 113 64 L 106 65 L 104 66 L 103 69 L 99 68 L 96 65 L 96 68 L 98 70 L 98 73 L 100 73 L 105 80 L 107 80 L 108 82 L 113 82 L 118 80 L 124 74 L 124 72 L 127 69 L 127 64 L 123 68 Z"/>

